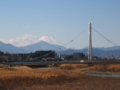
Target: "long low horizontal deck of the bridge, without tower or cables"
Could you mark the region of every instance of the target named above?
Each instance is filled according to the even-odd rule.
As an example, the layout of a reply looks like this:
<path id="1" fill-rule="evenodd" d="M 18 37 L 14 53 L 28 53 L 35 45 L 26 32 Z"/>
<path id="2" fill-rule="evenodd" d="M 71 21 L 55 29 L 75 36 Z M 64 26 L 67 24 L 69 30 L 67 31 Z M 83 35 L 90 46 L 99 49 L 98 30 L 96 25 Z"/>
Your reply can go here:
<path id="1" fill-rule="evenodd" d="M 50 64 L 99 64 L 105 63 L 105 61 L 88 61 L 88 60 L 71 60 L 71 61 L 32 61 L 32 62 L 6 62 L 6 65 L 50 65 Z M 114 60 L 106 63 L 120 63 L 120 61 Z"/>

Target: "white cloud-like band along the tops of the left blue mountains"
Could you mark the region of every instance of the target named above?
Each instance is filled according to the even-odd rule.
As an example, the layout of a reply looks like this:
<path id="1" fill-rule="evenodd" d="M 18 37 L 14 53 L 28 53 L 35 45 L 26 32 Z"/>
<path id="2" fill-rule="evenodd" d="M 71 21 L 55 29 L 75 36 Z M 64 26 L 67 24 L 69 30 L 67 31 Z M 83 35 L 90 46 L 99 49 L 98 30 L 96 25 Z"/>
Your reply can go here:
<path id="1" fill-rule="evenodd" d="M 29 34 L 23 35 L 22 37 L 17 37 L 15 39 L 9 39 L 9 40 L 0 39 L 0 41 L 2 41 L 3 43 L 12 44 L 12 45 L 17 46 L 17 47 L 31 45 L 34 43 L 38 43 L 40 41 L 48 42 L 50 44 L 61 45 L 53 37 L 42 36 L 42 37 L 38 38 L 34 35 L 29 35 Z"/>

